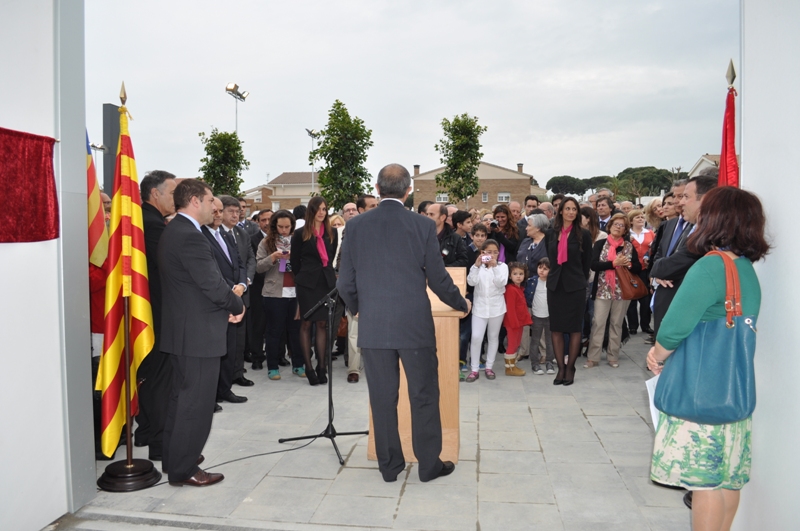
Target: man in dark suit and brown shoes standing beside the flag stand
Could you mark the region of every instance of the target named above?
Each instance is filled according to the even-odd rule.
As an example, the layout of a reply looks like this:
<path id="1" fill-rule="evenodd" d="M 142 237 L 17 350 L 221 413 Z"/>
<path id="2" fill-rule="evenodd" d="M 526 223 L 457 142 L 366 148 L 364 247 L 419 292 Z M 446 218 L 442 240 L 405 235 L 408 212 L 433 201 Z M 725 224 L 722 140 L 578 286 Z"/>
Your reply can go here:
<path id="1" fill-rule="evenodd" d="M 178 213 L 158 245 L 161 350 L 172 354 L 161 464 L 170 485 L 205 486 L 223 479 L 222 474 L 207 473 L 197 465 L 211 431 L 228 321 L 241 321 L 244 305 L 222 278 L 211 244 L 200 230 L 214 218 L 211 189 L 186 179 L 173 197 Z"/>

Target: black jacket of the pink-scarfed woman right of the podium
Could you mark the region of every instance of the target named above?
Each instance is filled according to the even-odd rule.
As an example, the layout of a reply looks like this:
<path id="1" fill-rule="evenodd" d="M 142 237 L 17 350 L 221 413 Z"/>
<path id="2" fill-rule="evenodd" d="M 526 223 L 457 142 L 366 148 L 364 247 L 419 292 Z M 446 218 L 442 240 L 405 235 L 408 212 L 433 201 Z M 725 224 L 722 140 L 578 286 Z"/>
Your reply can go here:
<path id="1" fill-rule="evenodd" d="M 589 280 L 589 268 L 592 265 L 592 235 L 581 229 L 581 239 L 569 233 L 567 238 L 567 261 L 558 264 L 558 233 L 555 229 L 545 232 L 547 256 L 550 258 L 550 274 L 547 276 L 547 289 L 555 291 L 559 280 L 564 291 L 572 293 L 586 289 Z"/>

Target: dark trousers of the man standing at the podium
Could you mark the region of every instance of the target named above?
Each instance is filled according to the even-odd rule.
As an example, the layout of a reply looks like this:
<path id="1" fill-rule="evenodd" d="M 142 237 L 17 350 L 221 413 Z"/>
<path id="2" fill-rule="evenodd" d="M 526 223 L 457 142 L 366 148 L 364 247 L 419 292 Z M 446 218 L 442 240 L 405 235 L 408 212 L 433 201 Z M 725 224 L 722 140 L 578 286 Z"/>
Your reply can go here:
<path id="1" fill-rule="evenodd" d="M 420 481 L 435 479 L 442 470 L 442 421 L 439 414 L 439 360 L 436 348 L 416 350 L 361 349 L 375 428 L 378 468 L 393 480 L 406 466 L 397 429 L 400 364 L 411 402 L 411 442 L 419 461 Z"/>

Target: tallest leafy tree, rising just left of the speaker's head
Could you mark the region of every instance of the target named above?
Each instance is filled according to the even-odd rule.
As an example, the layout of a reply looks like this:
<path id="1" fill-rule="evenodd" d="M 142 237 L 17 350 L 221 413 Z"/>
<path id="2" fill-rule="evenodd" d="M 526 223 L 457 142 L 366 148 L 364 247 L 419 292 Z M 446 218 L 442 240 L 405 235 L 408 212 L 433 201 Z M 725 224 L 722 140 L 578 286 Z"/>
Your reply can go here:
<path id="1" fill-rule="evenodd" d="M 318 176 L 320 195 L 328 207 L 342 208 L 345 203 L 372 190 L 372 176 L 364 167 L 367 150 L 372 147 L 372 130 L 357 116 L 350 116 L 344 103 L 333 102 L 328 111 L 328 125 L 318 133 L 317 148 L 308 155 L 312 164 L 324 161 Z"/>

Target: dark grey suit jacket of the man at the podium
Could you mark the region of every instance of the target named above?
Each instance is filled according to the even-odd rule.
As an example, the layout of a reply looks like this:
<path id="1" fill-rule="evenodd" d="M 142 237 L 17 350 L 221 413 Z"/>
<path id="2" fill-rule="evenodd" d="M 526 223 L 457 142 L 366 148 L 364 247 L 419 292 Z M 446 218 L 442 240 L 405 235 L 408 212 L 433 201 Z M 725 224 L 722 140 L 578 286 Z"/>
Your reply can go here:
<path id="1" fill-rule="evenodd" d="M 445 304 L 467 310 L 444 267 L 436 224 L 397 201 L 348 221 L 341 255 L 339 296 L 359 314 L 361 348 L 435 348 L 426 285 Z"/>

